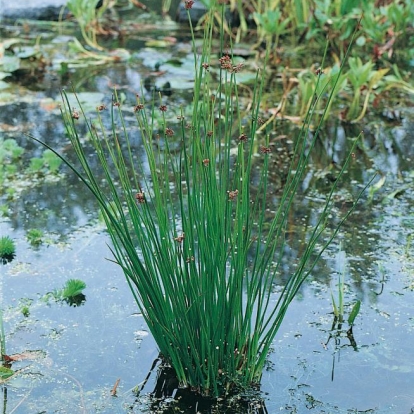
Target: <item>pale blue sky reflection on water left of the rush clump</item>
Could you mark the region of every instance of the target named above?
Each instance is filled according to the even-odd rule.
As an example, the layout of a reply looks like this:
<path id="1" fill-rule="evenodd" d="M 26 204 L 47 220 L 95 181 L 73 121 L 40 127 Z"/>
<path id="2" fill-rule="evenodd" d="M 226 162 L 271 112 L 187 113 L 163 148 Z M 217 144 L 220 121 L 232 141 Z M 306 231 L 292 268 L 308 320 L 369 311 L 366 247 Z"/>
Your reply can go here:
<path id="1" fill-rule="evenodd" d="M 121 395 L 128 393 L 145 378 L 156 358 L 151 337 L 137 341 L 134 336 L 146 326 L 137 315 L 122 272 L 104 259 L 110 257 L 107 242 L 105 234 L 88 227 L 72 234 L 69 247 L 42 246 L 41 254 L 33 253 L 19 241 L 16 262 L 7 268 L 7 280 L 3 279 L 7 291 L 3 307 L 17 308 L 19 298 L 24 297 L 34 299 L 34 303 L 27 319 L 18 314 L 18 309 L 6 311 L 7 349 L 9 353 L 26 349 L 47 353 L 47 358 L 35 361 L 31 370 L 40 375 L 20 382 L 20 386 L 33 388 L 20 412 L 49 411 L 53 407 L 58 410 L 63 406 L 67 412 L 80 412 L 79 385 L 86 412 L 94 412 L 94 404 L 104 401 L 107 408 L 113 402 L 116 408 L 122 398 L 106 398 L 116 379 L 121 378 Z M 53 300 L 46 305 L 38 299 L 63 286 L 69 278 L 85 281 L 84 305 L 73 308 Z M 11 384 L 9 407 L 21 399 L 14 391 Z"/>

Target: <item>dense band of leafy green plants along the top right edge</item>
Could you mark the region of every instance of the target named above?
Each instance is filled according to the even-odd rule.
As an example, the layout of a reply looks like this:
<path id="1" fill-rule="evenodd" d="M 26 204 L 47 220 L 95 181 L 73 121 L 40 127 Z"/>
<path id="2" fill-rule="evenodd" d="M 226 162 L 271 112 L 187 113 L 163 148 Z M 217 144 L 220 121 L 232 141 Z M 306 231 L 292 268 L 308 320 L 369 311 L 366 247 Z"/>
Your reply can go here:
<path id="1" fill-rule="evenodd" d="M 203 3 L 211 7 L 211 2 Z M 241 22 L 235 39 L 252 35 L 253 27 L 247 20 L 253 16 L 259 39 L 276 35 L 274 50 L 278 46 L 277 34 L 283 34 L 289 46 L 323 45 L 328 39 L 331 52 L 343 56 L 346 51 L 344 41 L 350 39 L 357 24 L 355 16 L 363 16 L 356 48 L 369 50 L 377 58 L 389 59 L 396 44 L 412 36 L 413 0 L 385 0 L 381 1 L 381 7 L 377 5 L 379 2 L 355 0 L 232 0 L 228 3 L 228 7 L 239 14 Z"/>

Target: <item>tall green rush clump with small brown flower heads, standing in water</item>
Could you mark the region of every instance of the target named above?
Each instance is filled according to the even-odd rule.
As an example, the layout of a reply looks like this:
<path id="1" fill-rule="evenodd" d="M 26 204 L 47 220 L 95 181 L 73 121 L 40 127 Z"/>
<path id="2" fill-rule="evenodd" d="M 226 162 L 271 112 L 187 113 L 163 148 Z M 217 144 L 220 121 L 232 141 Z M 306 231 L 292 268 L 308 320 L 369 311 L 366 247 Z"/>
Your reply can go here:
<path id="1" fill-rule="evenodd" d="M 181 386 L 217 397 L 260 381 L 290 302 L 358 197 L 328 232 L 332 197 L 350 154 L 296 270 L 282 291 L 273 293 L 289 211 L 320 128 L 310 133 L 320 95 L 304 119 L 287 183 L 275 201 L 269 134 L 256 133 L 262 72 L 250 109 L 243 109 L 237 84 L 242 65 L 233 64 L 224 47 L 215 57 L 211 44 L 209 27 L 201 54 L 194 52 L 190 119 L 181 111 L 172 120 L 172 110 L 156 95 L 150 102 L 137 96 L 133 109 L 139 145 L 125 125 L 116 91 L 110 130 L 104 126 L 104 106 L 92 126 L 82 109 L 69 105 L 65 93 L 62 115 L 81 167 L 64 161 L 99 203 L 113 260 L 122 268 L 164 362 L 174 368 Z M 209 74 L 211 66 L 218 69 L 218 83 Z M 78 133 L 80 116 L 89 129 L 90 147 Z M 96 162 L 105 187 L 93 169 Z M 270 223 L 265 218 L 269 209 L 274 211 Z"/>

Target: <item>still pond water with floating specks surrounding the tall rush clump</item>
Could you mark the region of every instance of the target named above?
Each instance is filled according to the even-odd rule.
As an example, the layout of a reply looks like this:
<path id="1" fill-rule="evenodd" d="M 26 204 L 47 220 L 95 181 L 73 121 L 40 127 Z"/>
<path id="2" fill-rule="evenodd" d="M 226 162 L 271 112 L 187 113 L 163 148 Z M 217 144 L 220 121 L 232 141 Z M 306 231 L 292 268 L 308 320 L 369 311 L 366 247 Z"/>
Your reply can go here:
<path id="1" fill-rule="evenodd" d="M 151 36 L 158 39 L 165 32 Z M 134 47 L 128 46 L 132 59 L 127 63 L 78 68 L 65 76 L 85 92 L 92 108 L 111 101 L 114 84 L 131 100 L 144 79 L 159 89 L 169 82 L 173 95 L 168 99 L 177 106 L 185 102 L 191 88 L 188 45 L 183 41 L 154 50 L 140 37 L 129 42 Z M 176 56 L 183 63 L 179 68 L 171 60 Z M 164 73 L 154 74 L 160 61 Z M 20 175 L 0 190 L 0 236 L 9 235 L 17 247 L 16 258 L 0 267 L 6 351 L 33 352 L 14 362 L 19 375 L 1 384 L 1 412 L 157 412 L 145 398 L 156 386 L 155 372 L 143 384 L 158 355 L 156 344 L 122 272 L 105 259 L 110 241 L 96 203 L 64 168 L 57 177 L 24 172 L 29 159 L 43 151 L 24 133 L 71 156 L 57 104 L 62 82 L 52 67 L 39 82 L 15 79 L 2 93 L 0 137 L 16 140 L 25 150 Z M 414 412 L 414 113 L 407 108 L 400 115 L 392 122 L 372 118 L 363 125 L 332 121 L 318 141 L 292 212 L 289 258 L 298 255 L 295 241 L 303 240 L 321 206 L 329 182 L 326 166 L 347 154 L 347 138 L 364 130 L 351 181 L 336 196 L 336 211 L 346 208 L 350 194 L 374 173 L 377 182 L 385 181 L 363 197 L 292 302 L 262 378 L 269 413 Z M 288 144 L 280 145 L 283 150 Z M 45 233 L 38 247 L 26 238 L 33 228 Z M 346 323 L 333 327 L 331 289 L 337 295 L 345 264 L 345 318 L 361 300 L 352 336 Z M 86 283 L 80 306 L 45 298 L 68 279 Z M 117 396 L 112 396 L 117 379 Z M 173 411 L 196 412 L 194 407 L 180 410 Z"/>

